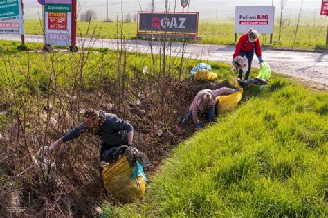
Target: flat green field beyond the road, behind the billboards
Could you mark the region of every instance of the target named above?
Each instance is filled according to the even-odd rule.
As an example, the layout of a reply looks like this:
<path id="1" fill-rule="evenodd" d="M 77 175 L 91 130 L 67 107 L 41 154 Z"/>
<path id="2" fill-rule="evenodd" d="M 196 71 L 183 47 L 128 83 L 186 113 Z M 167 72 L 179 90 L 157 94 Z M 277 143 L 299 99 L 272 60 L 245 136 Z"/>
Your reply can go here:
<path id="1" fill-rule="evenodd" d="M 27 19 L 24 21 L 26 34 L 41 35 L 42 29 L 40 23 L 36 19 Z M 136 23 L 124 23 L 124 34 L 128 39 L 135 39 L 136 37 Z M 97 28 L 100 30 L 100 38 L 115 39 L 120 30 L 120 24 L 116 22 L 106 23 L 100 21 L 91 21 L 89 31 L 89 23 L 78 22 L 78 33 L 83 37 L 91 37 L 93 30 Z M 270 45 L 275 48 L 327 48 L 325 44 L 326 27 L 325 26 L 300 26 L 298 30 L 298 37 L 293 43 L 295 26 L 286 26 L 282 29 L 282 39 L 278 41 L 278 27 L 275 26 L 275 34 L 273 34 L 273 44 Z M 235 44 L 234 39 L 234 24 L 231 21 L 215 23 L 213 21 L 203 21 L 199 23 L 199 37 L 197 40 L 199 44 Z M 260 40 L 263 45 L 269 46 L 270 35 L 262 35 Z"/>

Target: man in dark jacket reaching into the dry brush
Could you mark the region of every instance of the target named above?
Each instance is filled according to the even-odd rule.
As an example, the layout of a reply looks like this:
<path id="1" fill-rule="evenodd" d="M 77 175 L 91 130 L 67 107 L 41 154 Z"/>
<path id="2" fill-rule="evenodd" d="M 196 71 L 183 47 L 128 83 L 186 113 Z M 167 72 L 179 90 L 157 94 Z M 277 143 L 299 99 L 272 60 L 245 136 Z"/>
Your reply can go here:
<path id="1" fill-rule="evenodd" d="M 78 138 L 83 133 L 91 133 L 100 136 L 102 146 L 100 148 L 100 159 L 105 151 L 120 145 L 132 145 L 134 129 L 129 122 L 118 118 L 112 113 L 103 113 L 95 109 L 88 109 L 84 113 L 84 122 L 66 135 L 62 136 L 50 147 L 46 147 L 46 153 L 59 149 L 62 143 Z M 43 153 L 44 153 L 43 152 Z"/>

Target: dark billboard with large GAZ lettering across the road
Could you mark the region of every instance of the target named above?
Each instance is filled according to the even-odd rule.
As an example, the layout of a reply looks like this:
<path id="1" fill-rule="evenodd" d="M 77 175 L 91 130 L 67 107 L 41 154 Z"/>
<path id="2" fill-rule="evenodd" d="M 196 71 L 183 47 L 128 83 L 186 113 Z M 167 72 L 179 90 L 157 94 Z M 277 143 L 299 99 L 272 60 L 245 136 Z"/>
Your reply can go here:
<path id="1" fill-rule="evenodd" d="M 197 38 L 198 12 L 138 12 L 138 36 Z"/>

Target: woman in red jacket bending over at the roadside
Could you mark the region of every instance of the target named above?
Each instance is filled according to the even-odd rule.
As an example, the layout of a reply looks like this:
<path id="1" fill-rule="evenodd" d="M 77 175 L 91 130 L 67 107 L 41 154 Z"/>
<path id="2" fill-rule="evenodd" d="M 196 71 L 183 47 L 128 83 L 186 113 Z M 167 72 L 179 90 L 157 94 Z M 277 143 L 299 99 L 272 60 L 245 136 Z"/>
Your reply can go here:
<path id="1" fill-rule="evenodd" d="M 262 53 L 261 53 L 261 46 L 259 44 L 259 39 L 257 38 L 257 31 L 250 28 L 248 33 L 242 35 L 240 37 L 237 45 L 235 53 L 233 53 L 233 58 L 239 56 L 246 56 L 248 59 L 248 71 L 245 74 L 245 80 L 248 80 L 248 76 L 250 73 L 250 67 L 252 66 L 252 61 L 254 57 L 254 50 L 259 62 L 263 62 Z M 239 69 L 239 76 L 238 78 L 242 79 L 243 71 Z"/>

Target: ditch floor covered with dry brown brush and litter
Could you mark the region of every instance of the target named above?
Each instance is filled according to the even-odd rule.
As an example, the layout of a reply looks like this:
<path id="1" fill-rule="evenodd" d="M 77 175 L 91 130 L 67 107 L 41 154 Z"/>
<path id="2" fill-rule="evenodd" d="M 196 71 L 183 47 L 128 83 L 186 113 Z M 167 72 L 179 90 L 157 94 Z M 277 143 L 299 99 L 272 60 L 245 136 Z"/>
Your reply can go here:
<path id="1" fill-rule="evenodd" d="M 194 95 L 201 89 L 229 86 L 193 80 L 177 82 L 168 78 L 163 84 L 139 80 L 131 82 L 122 94 L 107 84 L 97 90 L 82 91 L 76 99 L 78 104 L 73 104 L 75 98 L 72 98 L 70 111 L 52 109 L 48 105 L 32 113 L 23 125 L 22 120 L 12 116 L 10 125 L 3 132 L 6 140 L 0 141 L 3 160 L 0 169 L 5 181 L 1 184 L 0 199 L 6 201 L 4 207 L 24 207 L 24 215 L 33 217 L 90 217 L 93 215 L 91 208 L 100 206 L 104 200 L 118 203 L 102 189 L 98 170 L 101 142 L 97 136 L 84 134 L 68 143 L 67 149 L 53 154 L 49 165 L 55 163 L 55 167 L 36 165 L 32 154 L 78 125 L 83 111 L 93 107 L 131 122 L 134 146 L 152 162 L 144 169 L 151 178 L 170 151 L 194 133 L 191 120 L 182 131 L 176 129 Z M 46 100 L 44 98 L 42 102 Z M 70 104 L 70 100 L 64 102 Z M 205 117 L 203 121 L 206 122 Z M 22 133 L 24 140 L 20 138 Z"/>

